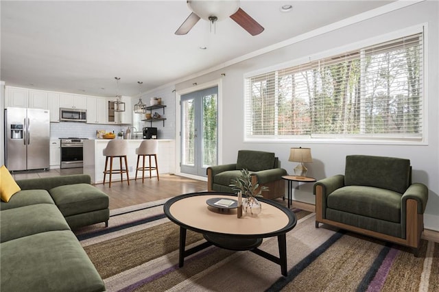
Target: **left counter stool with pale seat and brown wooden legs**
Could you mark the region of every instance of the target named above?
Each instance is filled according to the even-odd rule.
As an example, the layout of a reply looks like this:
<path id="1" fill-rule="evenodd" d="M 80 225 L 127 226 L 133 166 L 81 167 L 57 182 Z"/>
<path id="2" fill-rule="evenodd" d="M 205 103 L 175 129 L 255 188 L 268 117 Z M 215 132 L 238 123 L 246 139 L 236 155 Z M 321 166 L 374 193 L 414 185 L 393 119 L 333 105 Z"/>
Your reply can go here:
<path id="1" fill-rule="evenodd" d="M 130 185 L 130 178 L 128 178 L 128 162 L 126 156 L 128 155 L 128 141 L 125 140 L 111 140 L 108 142 L 107 147 L 104 149 L 105 169 L 104 169 L 104 184 L 107 173 L 110 174 L 110 182 L 108 187 L 111 187 L 111 175 L 112 173 L 121 174 L 121 182 L 123 182 L 123 173 L 126 173 L 126 181 L 128 186 Z M 120 169 L 112 169 L 112 158 L 119 157 Z M 123 169 L 122 158 L 125 161 L 125 169 Z M 108 167 L 108 160 L 110 160 L 110 169 Z"/>

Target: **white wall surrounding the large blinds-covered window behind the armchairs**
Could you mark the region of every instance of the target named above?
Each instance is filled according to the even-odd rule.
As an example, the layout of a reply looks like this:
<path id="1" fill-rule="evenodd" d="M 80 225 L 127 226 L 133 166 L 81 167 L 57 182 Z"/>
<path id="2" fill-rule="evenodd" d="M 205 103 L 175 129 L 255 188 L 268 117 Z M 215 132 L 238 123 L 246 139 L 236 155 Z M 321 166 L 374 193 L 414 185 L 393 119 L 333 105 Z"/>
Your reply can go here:
<path id="1" fill-rule="evenodd" d="M 413 167 L 413 181 L 422 182 L 429 188 L 429 202 L 426 208 L 425 228 L 439 230 L 439 103 L 438 103 L 438 10 L 437 1 L 425 1 L 372 19 L 348 25 L 332 32 L 314 36 L 293 45 L 276 49 L 231 66 L 191 80 L 176 84 L 176 90 L 190 88 L 194 82 L 203 84 L 221 77 L 223 109 L 222 162 L 235 162 L 238 149 L 274 151 L 282 167 L 292 173 L 294 164 L 288 162 L 290 147 L 311 147 L 314 162 L 307 165 L 309 176 L 317 179 L 337 173 L 344 173 L 344 160 L 348 154 L 366 154 L 409 158 Z M 244 143 L 244 74 L 259 69 L 308 57 L 379 34 L 394 32 L 413 25 L 427 23 L 428 71 L 425 73 L 428 94 L 428 145 L 359 145 L 339 143 Z M 286 28 L 287 29 L 287 28 Z M 304 194 L 305 193 L 305 194 Z M 311 184 L 301 185 L 296 195 L 302 201 L 313 201 Z"/>

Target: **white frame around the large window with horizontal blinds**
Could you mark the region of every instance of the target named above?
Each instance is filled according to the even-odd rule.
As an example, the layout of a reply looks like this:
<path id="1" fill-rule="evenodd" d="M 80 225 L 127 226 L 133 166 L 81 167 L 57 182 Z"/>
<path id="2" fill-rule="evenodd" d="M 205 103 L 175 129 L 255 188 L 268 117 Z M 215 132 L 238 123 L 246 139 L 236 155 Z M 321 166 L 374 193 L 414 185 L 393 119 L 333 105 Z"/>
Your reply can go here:
<path id="1" fill-rule="evenodd" d="M 284 69 L 289 69 L 294 66 L 300 66 L 300 64 L 307 64 L 309 62 L 316 62 L 318 60 L 330 58 L 331 56 L 342 55 L 343 53 L 349 51 L 355 51 L 369 47 L 372 45 L 377 45 L 382 42 L 388 42 L 396 38 L 403 38 L 405 36 L 410 36 L 412 34 L 423 33 L 423 73 L 421 74 L 423 84 L 423 93 L 421 97 L 421 102 L 423 108 L 421 111 L 421 127 L 420 136 L 422 138 L 402 138 L 396 137 L 391 138 L 390 134 L 379 137 L 377 135 L 373 137 L 368 137 L 366 134 L 361 134 L 361 136 L 335 136 L 331 134 L 314 134 L 309 135 L 260 135 L 260 136 L 250 136 L 248 134 L 248 114 L 250 108 L 248 108 L 248 103 L 250 97 L 248 96 L 246 84 L 248 84 L 248 79 L 251 77 L 256 77 L 262 74 L 275 73 L 276 71 L 282 71 Z M 244 74 L 244 143 L 285 143 L 285 142 L 300 142 L 300 143 L 335 143 L 335 144 L 366 144 L 366 145 L 428 145 L 428 34 L 427 34 L 427 23 L 422 23 L 420 25 L 414 25 L 412 27 L 406 27 L 404 29 L 399 29 L 395 32 L 390 32 L 388 34 L 382 34 L 379 36 L 374 36 L 372 38 L 367 38 L 360 42 L 354 42 L 348 45 L 342 45 L 340 47 L 335 47 L 333 49 L 328 49 L 320 53 L 313 54 L 311 56 L 303 56 L 295 60 L 288 62 L 283 62 L 276 64 L 274 66 L 269 66 L 264 69 L 258 69 Z"/>

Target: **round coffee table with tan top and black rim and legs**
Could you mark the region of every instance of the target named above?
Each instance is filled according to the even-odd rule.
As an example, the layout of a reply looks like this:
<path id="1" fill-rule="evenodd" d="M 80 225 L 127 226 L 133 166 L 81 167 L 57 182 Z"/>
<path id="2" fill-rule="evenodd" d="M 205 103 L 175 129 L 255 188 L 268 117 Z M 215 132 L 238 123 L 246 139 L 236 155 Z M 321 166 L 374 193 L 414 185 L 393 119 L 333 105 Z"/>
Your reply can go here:
<path id="1" fill-rule="evenodd" d="M 186 256 L 216 245 L 228 250 L 250 250 L 263 258 L 281 265 L 281 273 L 287 276 L 286 233 L 296 226 L 297 219 L 292 210 L 271 201 L 259 199 L 262 212 L 257 217 L 237 218 L 237 209 L 208 206 L 208 199 L 237 199 L 230 193 L 189 193 L 169 199 L 163 209 L 169 220 L 180 226 L 179 267 Z M 205 243 L 185 250 L 187 230 L 202 233 Z M 277 236 L 279 257 L 268 254 L 257 247 L 266 237 Z"/>

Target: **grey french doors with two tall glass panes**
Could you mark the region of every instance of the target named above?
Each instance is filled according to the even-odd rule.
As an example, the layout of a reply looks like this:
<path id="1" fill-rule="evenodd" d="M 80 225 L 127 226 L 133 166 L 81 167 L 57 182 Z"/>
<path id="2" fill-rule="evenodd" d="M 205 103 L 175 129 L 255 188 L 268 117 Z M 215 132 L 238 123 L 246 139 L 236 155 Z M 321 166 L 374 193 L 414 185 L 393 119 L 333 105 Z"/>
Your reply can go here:
<path id="1" fill-rule="evenodd" d="M 181 96 L 180 171 L 206 176 L 217 165 L 218 86 Z"/>

